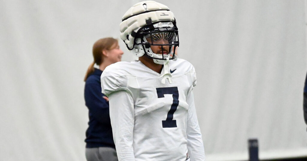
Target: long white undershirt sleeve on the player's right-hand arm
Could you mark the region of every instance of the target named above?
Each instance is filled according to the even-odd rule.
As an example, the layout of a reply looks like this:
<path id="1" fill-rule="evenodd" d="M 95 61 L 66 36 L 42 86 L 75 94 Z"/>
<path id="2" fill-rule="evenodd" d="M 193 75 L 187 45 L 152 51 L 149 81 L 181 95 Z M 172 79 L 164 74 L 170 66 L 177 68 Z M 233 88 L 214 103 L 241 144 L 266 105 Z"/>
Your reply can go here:
<path id="1" fill-rule="evenodd" d="M 188 93 L 187 103 L 189 105 L 186 130 L 188 139 L 188 155 L 190 155 L 191 160 L 204 161 L 204 144 L 197 121 L 193 91 Z"/>

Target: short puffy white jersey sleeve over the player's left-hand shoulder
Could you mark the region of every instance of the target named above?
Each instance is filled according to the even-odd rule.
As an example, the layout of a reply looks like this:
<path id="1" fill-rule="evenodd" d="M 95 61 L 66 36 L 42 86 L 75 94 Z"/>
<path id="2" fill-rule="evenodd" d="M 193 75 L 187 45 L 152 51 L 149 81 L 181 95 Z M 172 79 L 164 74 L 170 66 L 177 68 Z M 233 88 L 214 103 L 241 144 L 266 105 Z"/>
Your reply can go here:
<path id="1" fill-rule="evenodd" d="M 133 96 L 132 92 L 127 87 L 128 79 L 125 73 L 112 65 L 106 67 L 100 77 L 101 92 L 109 97 L 112 92 L 125 90 L 128 94 Z"/>

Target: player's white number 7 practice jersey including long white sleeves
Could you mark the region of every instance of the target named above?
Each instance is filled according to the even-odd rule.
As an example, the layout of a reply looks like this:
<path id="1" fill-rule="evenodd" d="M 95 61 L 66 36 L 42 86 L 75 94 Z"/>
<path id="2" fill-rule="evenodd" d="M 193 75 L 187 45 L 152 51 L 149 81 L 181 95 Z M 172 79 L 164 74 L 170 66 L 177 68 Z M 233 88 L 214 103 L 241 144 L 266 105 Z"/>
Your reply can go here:
<path id="1" fill-rule="evenodd" d="M 114 63 L 103 71 L 102 93 L 110 96 L 119 160 L 129 160 L 125 157 L 133 154 L 136 161 L 184 161 L 193 151 L 200 151 L 196 160 L 204 160 L 193 95 L 189 97 L 196 85 L 195 69 L 177 59 L 170 60 L 169 70 L 172 83 L 166 79 L 165 84 L 160 77 L 164 69 L 160 74 L 140 61 Z M 120 92 L 128 96 L 117 96 Z M 188 141 L 192 152 L 188 152 Z"/>

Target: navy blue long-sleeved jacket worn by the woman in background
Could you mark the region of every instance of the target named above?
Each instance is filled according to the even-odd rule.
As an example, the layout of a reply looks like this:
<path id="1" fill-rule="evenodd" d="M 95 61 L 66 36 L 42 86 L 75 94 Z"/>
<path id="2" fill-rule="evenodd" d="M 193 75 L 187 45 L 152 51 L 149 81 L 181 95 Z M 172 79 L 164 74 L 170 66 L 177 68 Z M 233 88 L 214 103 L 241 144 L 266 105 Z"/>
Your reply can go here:
<path id="1" fill-rule="evenodd" d="M 95 68 L 86 82 L 84 88 L 85 105 L 88 108 L 88 128 L 86 130 L 86 148 L 111 147 L 115 148 L 113 141 L 109 102 L 101 93 L 100 75 L 102 71 Z"/>

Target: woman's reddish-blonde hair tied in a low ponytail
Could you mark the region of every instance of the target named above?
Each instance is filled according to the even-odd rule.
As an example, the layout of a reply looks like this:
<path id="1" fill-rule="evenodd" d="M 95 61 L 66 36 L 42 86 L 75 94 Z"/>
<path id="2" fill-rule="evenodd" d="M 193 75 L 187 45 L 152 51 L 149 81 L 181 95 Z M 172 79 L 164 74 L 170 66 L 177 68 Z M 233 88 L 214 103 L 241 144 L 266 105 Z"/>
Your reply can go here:
<path id="1" fill-rule="evenodd" d="M 114 45 L 116 44 L 116 45 Z M 88 78 L 89 75 L 91 75 L 94 72 L 94 64 L 100 65 L 103 63 L 103 50 L 112 50 L 112 47 L 116 47 L 118 44 L 117 39 L 114 39 L 112 37 L 106 37 L 103 39 L 97 40 L 93 45 L 93 57 L 94 61 L 90 64 L 90 66 L 87 69 L 87 72 L 84 77 L 84 82 Z"/>

